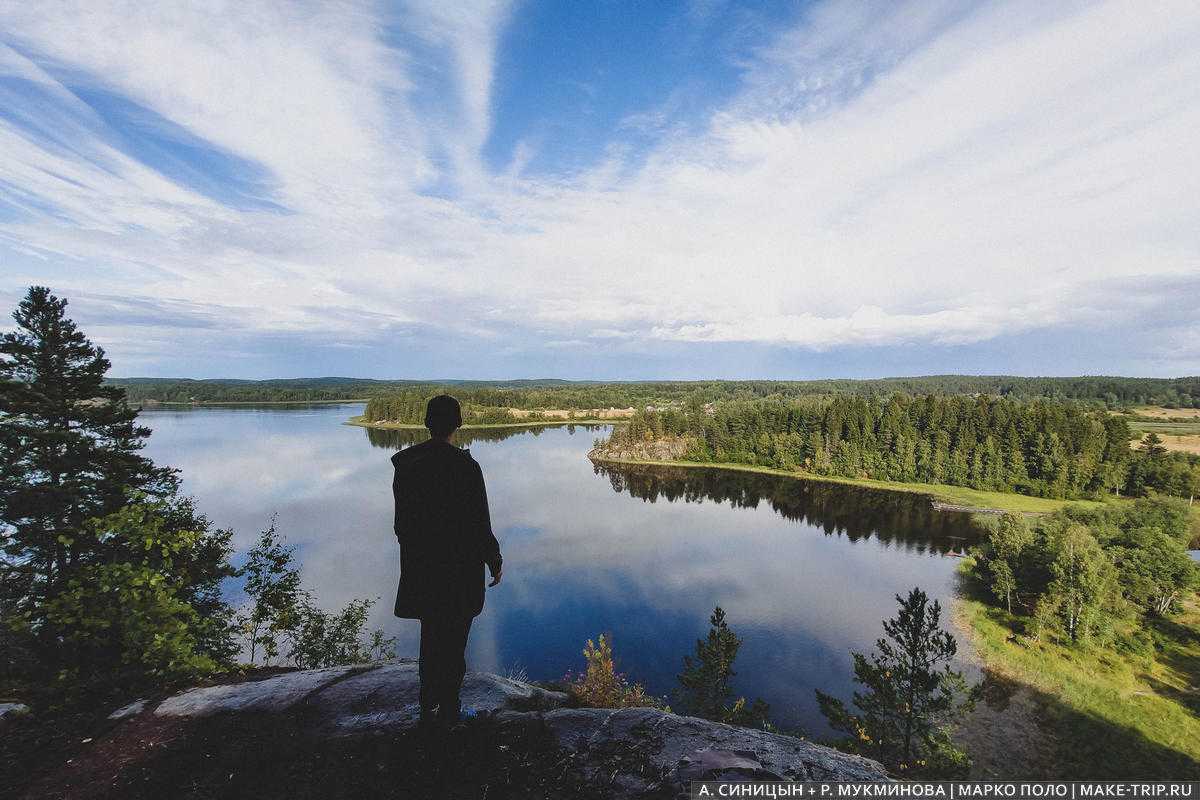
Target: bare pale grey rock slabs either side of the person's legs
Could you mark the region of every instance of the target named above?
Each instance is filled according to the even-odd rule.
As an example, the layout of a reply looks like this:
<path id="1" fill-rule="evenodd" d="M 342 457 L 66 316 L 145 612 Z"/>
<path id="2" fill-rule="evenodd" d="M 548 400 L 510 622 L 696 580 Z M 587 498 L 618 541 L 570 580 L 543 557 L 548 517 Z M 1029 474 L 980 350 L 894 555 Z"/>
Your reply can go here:
<path id="1" fill-rule="evenodd" d="M 286 718 L 288 730 L 318 746 L 344 748 L 356 738 L 408 735 L 416 724 L 418 687 L 416 663 L 398 660 L 193 688 L 157 704 L 131 704 L 110 718 L 120 720 L 113 735 L 127 726 L 242 718 L 283 729 Z M 658 709 L 565 708 L 563 693 L 490 673 L 468 673 L 462 700 L 490 726 L 482 746 L 547 742 L 559 754 L 556 764 L 602 784 L 596 796 L 672 796 L 701 778 L 888 780 L 876 762 L 792 736 Z"/>

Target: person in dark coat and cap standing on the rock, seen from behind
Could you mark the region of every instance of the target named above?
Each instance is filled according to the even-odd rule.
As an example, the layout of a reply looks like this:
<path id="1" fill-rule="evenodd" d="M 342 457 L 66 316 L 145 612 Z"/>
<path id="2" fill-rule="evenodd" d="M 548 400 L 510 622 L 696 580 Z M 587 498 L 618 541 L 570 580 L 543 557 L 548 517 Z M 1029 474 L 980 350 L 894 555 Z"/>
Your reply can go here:
<path id="1" fill-rule="evenodd" d="M 396 539 L 400 589 L 396 616 L 421 620 L 421 721 L 458 718 L 467 672 L 467 634 L 484 609 L 484 565 L 500 582 L 500 546 L 492 534 L 484 473 L 467 450 L 450 443 L 462 425 L 458 401 L 432 398 L 425 411 L 428 441 L 391 457 L 396 468 Z"/>

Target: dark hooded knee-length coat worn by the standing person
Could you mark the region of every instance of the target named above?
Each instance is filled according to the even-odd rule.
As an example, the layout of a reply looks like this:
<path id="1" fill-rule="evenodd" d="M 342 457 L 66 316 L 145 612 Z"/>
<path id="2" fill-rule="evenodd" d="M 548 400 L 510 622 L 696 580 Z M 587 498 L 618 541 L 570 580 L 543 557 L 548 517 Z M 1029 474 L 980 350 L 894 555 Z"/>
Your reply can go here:
<path id="1" fill-rule="evenodd" d="M 391 463 L 396 616 L 475 616 L 484 609 L 484 565 L 500 566 L 482 470 L 469 451 L 434 439 L 401 450 Z"/>

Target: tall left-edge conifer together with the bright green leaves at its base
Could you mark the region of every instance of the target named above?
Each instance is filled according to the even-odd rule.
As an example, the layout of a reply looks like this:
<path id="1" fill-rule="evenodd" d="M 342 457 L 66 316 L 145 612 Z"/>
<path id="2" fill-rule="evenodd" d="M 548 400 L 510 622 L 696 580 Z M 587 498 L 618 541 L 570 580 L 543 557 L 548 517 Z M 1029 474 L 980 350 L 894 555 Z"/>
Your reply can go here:
<path id="1" fill-rule="evenodd" d="M 230 534 L 138 452 L 150 432 L 66 307 L 32 287 L 0 337 L 4 678 L 55 700 L 192 679 L 236 649 Z"/>

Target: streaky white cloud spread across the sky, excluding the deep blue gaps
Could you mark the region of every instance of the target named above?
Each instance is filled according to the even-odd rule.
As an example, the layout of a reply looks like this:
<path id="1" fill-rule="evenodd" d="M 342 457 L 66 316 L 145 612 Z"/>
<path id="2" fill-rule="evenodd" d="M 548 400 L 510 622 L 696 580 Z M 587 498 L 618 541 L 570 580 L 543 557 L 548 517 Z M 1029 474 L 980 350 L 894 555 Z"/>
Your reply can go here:
<path id="1" fill-rule="evenodd" d="M 0 217 L 0 242 L 78 263 L 64 290 L 341 343 L 418 323 L 485 342 L 962 344 L 1145 325 L 1130 279 L 1200 273 L 1194 4 L 822 4 L 748 54 L 703 134 L 664 133 L 631 168 L 618 131 L 572 178 L 528 176 L 528 143 L 503 174 L 482 162 L 510 11 L 10 8 L 0 71 L 54 92 L 30 112 L 72 149 L 0 120 L 0 180 L 31 215 Z M 416 97 L 425 65 L 388 44 L 396 24 L 446 65 L 445 108 Z M 230 210 L 115 150 L 22 53 L 264 166 L 287 212 Z M 1190 347 L 1174 363 L 1200 367 Z"/>

